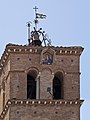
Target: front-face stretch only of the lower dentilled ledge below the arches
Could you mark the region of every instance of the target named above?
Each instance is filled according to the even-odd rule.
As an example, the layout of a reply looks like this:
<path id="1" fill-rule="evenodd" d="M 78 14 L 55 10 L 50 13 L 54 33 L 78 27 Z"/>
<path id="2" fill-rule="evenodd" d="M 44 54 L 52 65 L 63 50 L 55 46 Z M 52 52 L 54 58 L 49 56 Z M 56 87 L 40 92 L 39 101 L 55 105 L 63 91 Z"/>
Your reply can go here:
<path id="1" fill-rule="evenodd" d="M 62 105 L 62 104 L 81 104 L 82 101 L 77 100 L 10 100 L 8 105 Z"/>

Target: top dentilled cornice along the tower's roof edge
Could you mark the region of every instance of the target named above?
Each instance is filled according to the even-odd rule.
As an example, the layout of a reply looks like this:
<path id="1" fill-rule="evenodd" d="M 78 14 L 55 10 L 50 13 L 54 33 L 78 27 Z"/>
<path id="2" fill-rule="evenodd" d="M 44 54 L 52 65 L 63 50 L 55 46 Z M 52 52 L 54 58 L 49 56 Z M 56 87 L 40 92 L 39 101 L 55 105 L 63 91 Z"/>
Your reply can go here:
<path id="1" fill-rule="evenodd" d="M 0 73 L 2 71 L 3 66 L 6 63 L 6 60 L 8 59 L 8 56 L 10 53 L 17 53 L 17 54 L 26 54 L 26 53 L 31 53 L 31 54 L 41 54 L 42 50 L 45 49 L 46 47 L 42 46 L 22 46 L 22 45 L 14 45 L 14 44 L 8 44 L 6 46 L 6 49 L 1 57 L 0 60 Z M 48 48 L 52 48 L 56 55 L 81 55 L 82 51 L 84 48 L 78 47 L 78 46 L 73 46 L 73 47 L 54 47 L 54 46 L 49 46 Z"/>

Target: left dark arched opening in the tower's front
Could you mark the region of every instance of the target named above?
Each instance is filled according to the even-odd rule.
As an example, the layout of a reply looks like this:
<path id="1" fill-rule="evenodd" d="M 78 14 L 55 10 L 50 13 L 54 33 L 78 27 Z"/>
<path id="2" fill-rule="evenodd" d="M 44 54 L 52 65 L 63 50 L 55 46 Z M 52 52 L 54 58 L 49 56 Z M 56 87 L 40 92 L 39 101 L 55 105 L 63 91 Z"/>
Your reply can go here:
<path id="1" fill-rule="evenodd" d="M 27 74 L 27 99 L 36 99 L 36 71 Z"/>

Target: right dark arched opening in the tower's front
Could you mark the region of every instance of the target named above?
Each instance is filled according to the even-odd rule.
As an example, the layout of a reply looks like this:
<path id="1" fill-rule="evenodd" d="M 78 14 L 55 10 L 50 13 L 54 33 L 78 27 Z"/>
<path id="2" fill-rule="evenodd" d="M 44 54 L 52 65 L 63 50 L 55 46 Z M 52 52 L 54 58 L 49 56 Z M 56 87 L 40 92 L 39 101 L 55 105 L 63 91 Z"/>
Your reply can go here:
<path id="1" fill-rule="evenodd" d="M 63 74 L 57 72 L 53 79 L 53 99 L 63 99 Z"/>

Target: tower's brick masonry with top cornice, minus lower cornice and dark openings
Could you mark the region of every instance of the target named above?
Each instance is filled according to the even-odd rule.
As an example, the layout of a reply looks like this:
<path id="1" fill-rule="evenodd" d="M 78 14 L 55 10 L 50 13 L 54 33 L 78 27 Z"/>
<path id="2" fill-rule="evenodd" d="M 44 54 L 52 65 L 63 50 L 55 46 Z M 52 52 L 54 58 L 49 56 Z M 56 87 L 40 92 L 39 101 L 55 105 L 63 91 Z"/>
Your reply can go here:
<path id="1" fill-rule="evenodd" d="M 27 100 L 27 74 L 39 77 L 39 100 L 52 100 L 53 78 L 63 74 L 63 100 L 80 101 L 80 55 L 82 47 L 33 47 L 7 45 L 0 60 L 0 112 L 2 120 L 80 120 L 80 105 L 11 105 L 8 100 Z M 43 64 L 50 54 L 52 64 Z M 38 79 L 37 77 L 37 79 Z M 5 86 L 5 88 L 4 88 Z M 5 93 L 5 95 L 3 95 Z"/>

